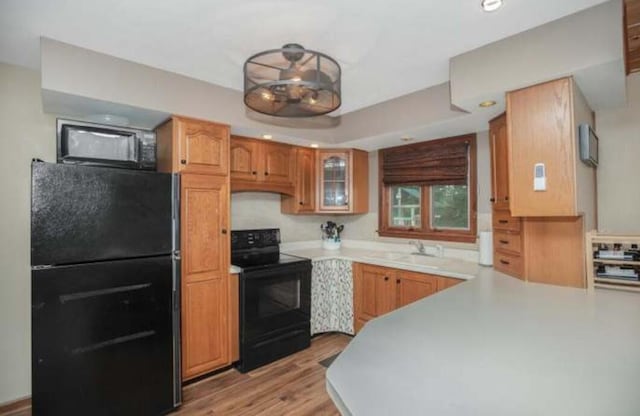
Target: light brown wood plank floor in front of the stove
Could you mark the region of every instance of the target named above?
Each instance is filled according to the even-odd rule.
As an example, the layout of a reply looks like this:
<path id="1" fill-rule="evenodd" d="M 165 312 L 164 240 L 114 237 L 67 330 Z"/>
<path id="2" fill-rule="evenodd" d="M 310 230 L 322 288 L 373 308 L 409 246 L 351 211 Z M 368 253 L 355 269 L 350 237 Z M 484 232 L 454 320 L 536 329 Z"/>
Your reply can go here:
<path id="1" fill-rule="evenodd" d="M 351 337 L 325 334 L 311 347 L 246 374 L 236 370 L 184 388 L 183 404 L 171 416 L 338 415 L 325 389 L 326 369 L 318 364 L 342 351 Z M 31 409 L 0 415 L 29 416 Z"/>

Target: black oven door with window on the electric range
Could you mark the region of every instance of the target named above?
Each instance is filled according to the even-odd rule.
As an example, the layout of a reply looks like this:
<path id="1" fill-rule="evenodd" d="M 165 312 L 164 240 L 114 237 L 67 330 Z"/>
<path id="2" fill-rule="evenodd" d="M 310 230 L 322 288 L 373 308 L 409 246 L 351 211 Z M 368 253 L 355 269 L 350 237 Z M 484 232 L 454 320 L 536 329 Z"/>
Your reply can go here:
<path id="1" fill-rule="evenodd" d="M 241 344 L 307 328 L 310 314 L 311 262 L 273 265 L 241 274 Z"/>

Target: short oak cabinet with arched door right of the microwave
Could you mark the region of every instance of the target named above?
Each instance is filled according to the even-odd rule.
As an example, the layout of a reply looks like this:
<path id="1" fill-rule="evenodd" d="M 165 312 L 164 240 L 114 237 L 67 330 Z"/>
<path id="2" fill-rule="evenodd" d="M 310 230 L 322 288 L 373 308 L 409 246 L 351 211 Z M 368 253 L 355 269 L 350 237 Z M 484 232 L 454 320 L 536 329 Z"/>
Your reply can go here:
<path id="1" fill-rule="evenodd" d="M 229 173 L 229 126 L 173 116 L 156 129 L 158 170 Z"/>

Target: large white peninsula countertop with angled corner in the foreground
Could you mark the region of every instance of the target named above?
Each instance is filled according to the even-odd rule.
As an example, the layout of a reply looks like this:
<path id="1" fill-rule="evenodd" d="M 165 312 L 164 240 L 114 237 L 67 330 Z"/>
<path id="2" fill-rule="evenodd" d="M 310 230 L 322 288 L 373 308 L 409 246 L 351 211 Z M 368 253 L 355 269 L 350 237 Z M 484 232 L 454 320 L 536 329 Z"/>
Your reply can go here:
<path id="1" fill-rule="evenodd" d="M 327 371 L 353 415 L 640 415 L 640 297 L 478 268 L 370 321 Z"/>

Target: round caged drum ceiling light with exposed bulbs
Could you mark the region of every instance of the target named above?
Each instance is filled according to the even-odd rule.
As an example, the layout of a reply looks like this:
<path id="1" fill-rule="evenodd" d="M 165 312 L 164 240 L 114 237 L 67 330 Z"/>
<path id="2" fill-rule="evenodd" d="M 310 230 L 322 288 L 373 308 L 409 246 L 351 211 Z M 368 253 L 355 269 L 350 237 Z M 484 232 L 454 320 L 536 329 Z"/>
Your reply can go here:
<path id="1" fill-rule="evenodd" d="M 276 117 L 312 117 L 340 107 L 338 62 L 297 43 L 253 55 L 244 63 L 244 103 Z"/>

